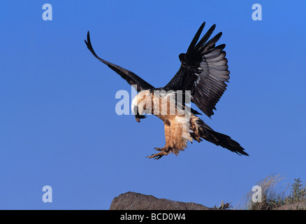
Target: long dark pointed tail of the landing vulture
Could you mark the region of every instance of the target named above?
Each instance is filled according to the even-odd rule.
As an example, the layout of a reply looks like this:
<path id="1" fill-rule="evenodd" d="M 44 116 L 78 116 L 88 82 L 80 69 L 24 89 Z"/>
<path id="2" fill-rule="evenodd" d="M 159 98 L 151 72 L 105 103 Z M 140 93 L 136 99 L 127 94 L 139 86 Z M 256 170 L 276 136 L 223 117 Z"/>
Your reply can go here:
<path id="1" fill-rule="evenodd" d="M 242 148 L 237 141 L 234 141 L 226 134 L 221 134 L 219 132 L 214 132 L 211 127 L 206 125 L 203 120 L 196 116 L 191 117 L 191 125 L 194 133 L 191 134 L 196 141 L 201 141 L 199 137 L 210 141 L 212 144 L 227 148 L 229 151 L 237 153 L 238 155 L 249 155 L 245 152 L 245 148 Z"/>

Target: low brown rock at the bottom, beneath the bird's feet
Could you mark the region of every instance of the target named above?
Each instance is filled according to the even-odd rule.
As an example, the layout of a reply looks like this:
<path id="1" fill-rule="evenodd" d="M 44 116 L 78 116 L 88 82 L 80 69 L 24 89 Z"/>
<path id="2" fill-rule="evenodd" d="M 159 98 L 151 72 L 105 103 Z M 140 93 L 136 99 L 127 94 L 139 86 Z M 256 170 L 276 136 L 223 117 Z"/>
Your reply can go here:
<path id="1" fill-rule="evenodd" d="M 115 197 L 110 210 L 210 210 L 202 204 L 158 199 L 152 195 L 127 192 Z"/>

